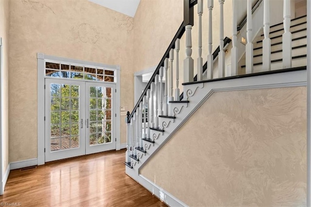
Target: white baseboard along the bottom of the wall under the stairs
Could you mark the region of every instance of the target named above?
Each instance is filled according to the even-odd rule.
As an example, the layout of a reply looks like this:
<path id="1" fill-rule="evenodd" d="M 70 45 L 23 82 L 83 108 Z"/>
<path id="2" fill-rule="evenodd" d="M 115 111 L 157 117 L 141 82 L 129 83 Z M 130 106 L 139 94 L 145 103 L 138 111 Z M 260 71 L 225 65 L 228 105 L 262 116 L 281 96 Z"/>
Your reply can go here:
<path id="1" fill-rule="evenodd" d="M 168 191 L 162 189 L 160 186 L 156 185 L 154 182 L 147 179 L 145 176 L 138 175 L 138 183 L 144 188 L 149 190 L 153 195 L 158 197 L 161 201 L 165 202 L 168 206 L 171 207 L 188 207 L 185 203 L 174 197 Z"/>

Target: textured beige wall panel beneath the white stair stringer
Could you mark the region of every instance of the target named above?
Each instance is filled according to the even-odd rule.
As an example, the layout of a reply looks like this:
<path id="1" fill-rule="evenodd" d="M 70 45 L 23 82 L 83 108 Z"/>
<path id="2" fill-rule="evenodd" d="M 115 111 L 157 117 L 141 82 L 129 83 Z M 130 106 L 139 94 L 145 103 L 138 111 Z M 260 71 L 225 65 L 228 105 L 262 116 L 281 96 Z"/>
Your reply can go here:
<path id="1" fill-rule="evenodd" d="M 306 103 L 306 87 L 216 92 L 140 173 L 189 206 L 305 206 Z"/>

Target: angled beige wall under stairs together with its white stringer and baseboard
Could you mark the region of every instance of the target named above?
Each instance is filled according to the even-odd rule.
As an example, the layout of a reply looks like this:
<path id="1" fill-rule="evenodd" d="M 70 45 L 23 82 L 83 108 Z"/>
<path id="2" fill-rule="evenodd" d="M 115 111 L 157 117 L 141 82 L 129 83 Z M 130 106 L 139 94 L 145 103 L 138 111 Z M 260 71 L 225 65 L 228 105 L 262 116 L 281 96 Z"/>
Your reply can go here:
<path id="1" fill-rule="evenodd" d="M 305 69 L 184 84 L 126 174 L 169 206 L 304 205 Z"/>

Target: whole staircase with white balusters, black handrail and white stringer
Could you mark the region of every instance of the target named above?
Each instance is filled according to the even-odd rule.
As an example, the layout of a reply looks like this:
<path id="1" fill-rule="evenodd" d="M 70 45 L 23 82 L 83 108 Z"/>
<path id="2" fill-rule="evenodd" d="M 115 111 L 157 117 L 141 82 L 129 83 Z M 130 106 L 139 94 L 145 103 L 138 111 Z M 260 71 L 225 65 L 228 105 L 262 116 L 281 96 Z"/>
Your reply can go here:
<path id="1" fill-rule="evenodd" d="M 126 174 L 135 179 L 142 186 L 152 191 L 162 201 L 171 206 L 187 206 L 187 204 L 181 202 L 169 192 L 156 186 L 155 183 L 147 180 L 140 175 L 140 169 L 157 153 L 163 145 L 179 130 L 180 127 L 192 116 L 192 114 L 202 105 L 205 101 L 215 92 L 226 90 L 227 88 L 241 89 L 243 87 L 263 87 L 272 85 L 284 84 L 283 80 L 289 80 L 287 83 L 295 84 L 301 82 L 305 78 L 305 70 L 307 65 L 307 33 L 306 33 L 306 21 L 307 17 L 297 17 L 289 19 L 288 14 L 284 14 L 285 24 L 289 24 L 289 32 L 292 34 L 291 44 L 292 49 L 292 61 L 290 66 L 283 61 L 283 56 L 287 55 L 283 52 L 283 44 L 287 44 L 288 31 L 285 39 L 282 37 L 284 34 L 284 28 L 287 26 L 283 23 L 279 23 L 270 26 L 270 31 L 267 28 L 261 28 L 261 32 L 250 41 L 251 24 L 247 24 L 247 45 L 244 55 L 238 59 L 237 51 L 237 28 L 241 28 L 240 24 L 237 24 L 235 12 L 233 12 L 233 25 L 232 42 L 231 39 L 224 38 L 224 23 L 223 17 L 220 16 L 220 41 L 219 46 L 214 52 L 211 47 L 208 47 L 207 62 L 203 64 L 202 58 L 202 29 L 199 29 L 199 56 L 197 60 L 193 60 L 191 57 L 192 44 L 191 44 L 191 28 L 194 25 L 193 22 L 193 7 L 198 7 L 199 23 L 198 27 L 202 28 L 202 22 L 200 18 L 203 13 L 203 0 L 185 0 L 184 10 L 184 22 L 181 24 L 176 35 L 173 37 L 171 44 L 167 51 L 164 53 L 161 61 L 159 62 L 155 73 L 144 89 L 138 103 L 134 107 L 132 112 L 127 112 L 127 151 L 125 155 Z M 220 14 L 223 14 L 224 1 L 220 2 Z M 258 7 L 255 5 L 252 7 L 250 0 L 247 1 L 247 18 L 251 17 L 252 12 Z M 268 0 L 263 0 L 260 3 L 268 3 Z M 284 0 L 284 7 L 290 6 L 287 0 Z M 209 17 L 212 17 L 211 12 L 213 9 L 213 1 L 207 1 L 207 7 Z M 233 9 L 235 6 L 233 6 Z M 265 6 L 264 9 L 269 9 L 269 6 Z M 268 18 L 263 20 L 265 27 Z M 287 23 L 286 23 L 287 22 Z M 208 24 L 211 25 L 212 19 L 208 20 Z M 286 29 L 285 29 L 286 30 Z M 270 38 L 271 43 L 271 60 L 269 61 L 269 67 L 263 66 L 263 39 L 264 32 L 266 36 Z M 212 28 L 208 30 L 208 35 L 211 36 Z M 179 50 L 181 39 L 185 39 L 186 58 L 183 64 L 179 64 Z M 212 40 L 208 40 L 208 45 L 212 44 Z M 228 57 L 225 52 L 225 47 L 231 48 L 230 56 Z M 250 47 L 251 46 L 251 47 Z M 286 46 L 286 45 L 285 45 Z M 266 47 L 266 46 L 264 46 Z M 252 48 L 251 54 L 248 53 L 247 48 Z M 286 48 L 286 47 L 285 47 Z M 288 50 L 288 49 L 286 49 Z M 285 57 L 285 56 L 284 56 Z M 175 58 L 175 59 L 174 59 Z M 230 68 L 231 71 L 225 76 L 225 59 L 231 58 Z M 177 59 L 177 61 L 176 61 Z M 250 61 L 251 60 L 251 61 Z M 198 74 L 193 74 L 193 62 L 197 61 Z M 174 64 L 173 64 L 174 63 Z M 248 63 L 248 64 L 246 64 Z M 251 65 L 250 65 L 251 64 Z M 184 80 L 182 82 L 183 89 L 180 94 L 179 80 L 173 80 L 173 77 L 177 73 L 179 67 L 183 70 Z M 215 70 L 218 70 L 218 77 L 213 77 Z M 173 73 L 175 73 L 173 75 Z M 292 76 L 294 74 L 294 76 Z M 165 82 L 163 81 L 165 79 Z M 241 81 L 243 79 L 243 81 Z M 163 94 L 162 83 L 165 83 L 165 93 Z M 189 153 L 189 152 L 185 152 Z M 169 157 L 168 157 L 169 158 Z M 182 160 L 181 160 L 182 163 Z"/>

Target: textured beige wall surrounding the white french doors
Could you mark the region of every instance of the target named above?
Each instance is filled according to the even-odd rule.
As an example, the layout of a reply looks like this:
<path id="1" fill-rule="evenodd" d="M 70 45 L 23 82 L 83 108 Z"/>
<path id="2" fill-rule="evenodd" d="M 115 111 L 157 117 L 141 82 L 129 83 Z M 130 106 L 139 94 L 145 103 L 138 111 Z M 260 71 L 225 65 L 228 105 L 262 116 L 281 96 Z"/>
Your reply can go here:
<path id="1" fill-rule="evenodd" d="M 121 65 L 121 105 L 130 109 L 133 35 L 132 17 L 87 0 L 10 1 L 10 162 L 37 157 L 36 53 Z M 121 117 L 121 143 L 125 133 Z"/>

